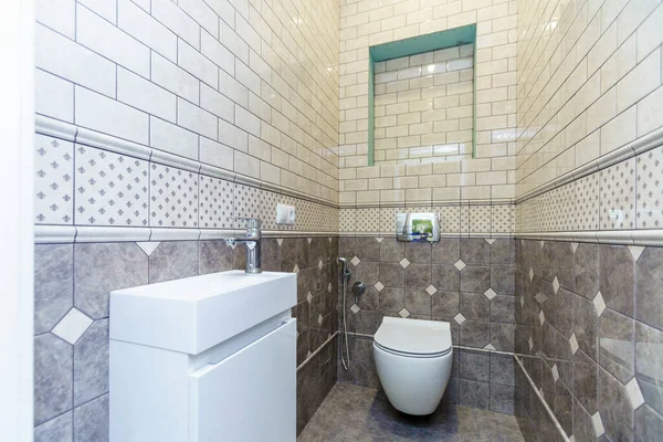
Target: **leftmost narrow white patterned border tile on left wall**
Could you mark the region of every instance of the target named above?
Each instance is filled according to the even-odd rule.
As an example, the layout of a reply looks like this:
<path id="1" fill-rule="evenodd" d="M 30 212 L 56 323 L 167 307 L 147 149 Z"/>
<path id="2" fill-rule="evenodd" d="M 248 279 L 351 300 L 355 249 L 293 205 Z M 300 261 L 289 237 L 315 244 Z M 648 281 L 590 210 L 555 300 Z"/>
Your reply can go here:
<path id="1" fill-rule="evenodd" d="M 73 224 L 74 145 L 35 135 L 34 149 L 34 222 Z"/>

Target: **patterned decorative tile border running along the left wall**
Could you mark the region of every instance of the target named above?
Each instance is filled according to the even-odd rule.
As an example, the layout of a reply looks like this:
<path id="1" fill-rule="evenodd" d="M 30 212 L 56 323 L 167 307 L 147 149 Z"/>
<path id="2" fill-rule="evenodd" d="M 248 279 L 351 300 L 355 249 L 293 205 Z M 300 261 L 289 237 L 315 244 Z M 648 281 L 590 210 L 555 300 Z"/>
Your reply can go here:
<path id="1" fill-rule="evenodd" d="M 244 225 L 243 221 L 233 221 L 233 217 L 260 218 L 263 230 L 276 235 L 281 231 L 298 235 L 338 232 L 335 204 L 285 194 L 278 187 L 170 154 L 154 151 L 145 160 L 139 145 L 84 129 L 76 134 L 74 139 L 85 134 L 85 140 L 103 140 L 114 150 L 36 135 L 35 224 L 51 227 L 38 229 L 38 242 L 144 241 L 156 234 L 169 240 L 197 239 L 206 229 L 228 236 L 228 232 L 233 234 Z M 110 141 L 120 144 L 122 149 L 115 149 Z M 136 149 L 137 157 L 125 154 L 131 149 Z M 276 224 L 277 203 L 296 208 L 295 225 Z M 72 230 L 54 234 L 54 225 L 76 228 L 73 234 Z M 139 227 L 146 229 L 129 229 Z"/>

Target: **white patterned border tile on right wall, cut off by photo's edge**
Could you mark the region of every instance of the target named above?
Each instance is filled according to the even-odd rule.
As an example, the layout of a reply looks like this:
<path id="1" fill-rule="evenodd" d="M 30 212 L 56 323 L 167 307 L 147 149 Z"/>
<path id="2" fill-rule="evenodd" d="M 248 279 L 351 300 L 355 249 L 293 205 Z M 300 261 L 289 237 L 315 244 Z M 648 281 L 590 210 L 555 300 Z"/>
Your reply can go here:
<path id="1" fill-rule="evenodd" d="M 663 146 L 635 157 L 638 229 L 663 228 Z"/>

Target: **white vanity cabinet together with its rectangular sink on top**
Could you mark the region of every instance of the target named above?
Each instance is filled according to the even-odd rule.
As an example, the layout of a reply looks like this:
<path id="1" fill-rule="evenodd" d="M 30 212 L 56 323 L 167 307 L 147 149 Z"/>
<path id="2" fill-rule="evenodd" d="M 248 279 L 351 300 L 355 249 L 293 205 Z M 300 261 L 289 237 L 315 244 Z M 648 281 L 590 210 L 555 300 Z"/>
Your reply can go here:
<path id="1" fill-rule="evenodd" d="M 296 275 L 222 272 L 110 295 L 110 441 L 296 439 Z"/>

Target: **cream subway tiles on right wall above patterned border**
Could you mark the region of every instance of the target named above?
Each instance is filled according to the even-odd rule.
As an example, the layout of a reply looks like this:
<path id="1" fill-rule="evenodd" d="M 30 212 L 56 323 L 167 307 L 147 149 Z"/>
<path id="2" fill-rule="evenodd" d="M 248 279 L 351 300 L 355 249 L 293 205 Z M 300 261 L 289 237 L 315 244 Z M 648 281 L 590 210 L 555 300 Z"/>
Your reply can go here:
<path id="1" fill-rule="evenodd" d="M 518 197 L 663 126 L 662 15 L 659 0 L 518 2 Z"/>

